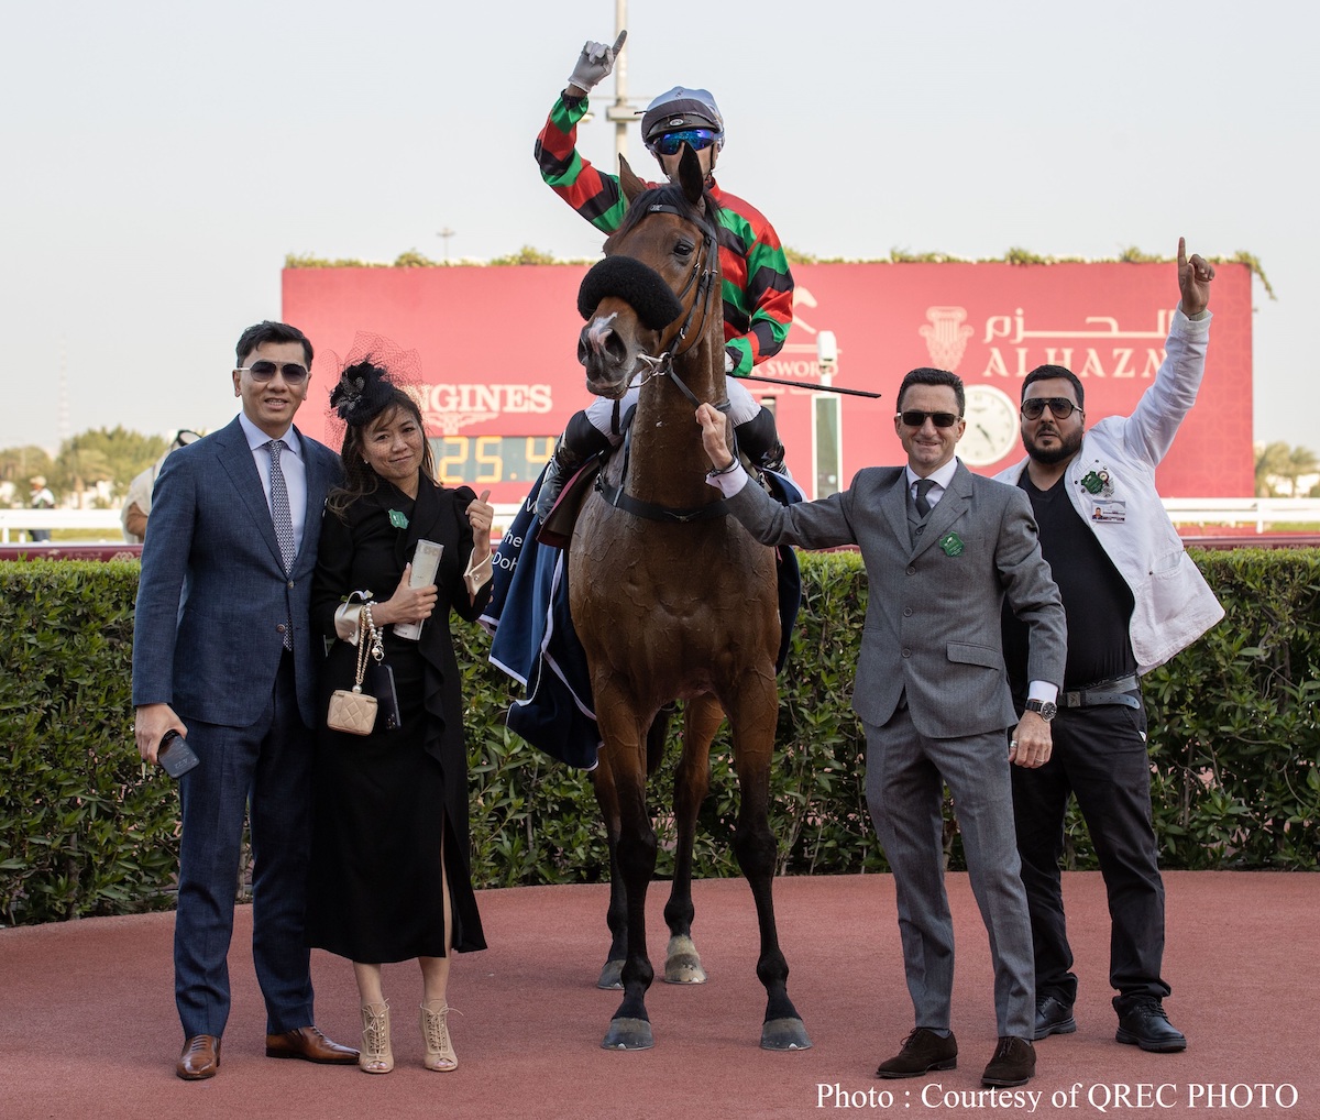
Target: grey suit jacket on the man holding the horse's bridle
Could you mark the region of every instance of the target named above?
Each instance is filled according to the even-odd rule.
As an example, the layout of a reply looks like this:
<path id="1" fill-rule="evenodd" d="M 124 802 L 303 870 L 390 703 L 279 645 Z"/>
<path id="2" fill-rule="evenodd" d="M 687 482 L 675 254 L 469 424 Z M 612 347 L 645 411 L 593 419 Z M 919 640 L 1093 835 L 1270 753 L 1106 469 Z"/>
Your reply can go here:
<path id="1" fill-rule="evenodd" d="M 1027 495 L 961 462 L 911 544 L 904 469 L 858 472 L 841 494 L 780 506 L 755 485 L 733 514 L 766 544 L 855 544 L 869 581 L 853 708 L 883 725 L 907 692 L 912 724 L 932 738 L 1011 726 L 999 634 L 1003 598 L 1031 629 L 1031 680 L 1063 684 L 1067 623 L 1040 555 Z"/>

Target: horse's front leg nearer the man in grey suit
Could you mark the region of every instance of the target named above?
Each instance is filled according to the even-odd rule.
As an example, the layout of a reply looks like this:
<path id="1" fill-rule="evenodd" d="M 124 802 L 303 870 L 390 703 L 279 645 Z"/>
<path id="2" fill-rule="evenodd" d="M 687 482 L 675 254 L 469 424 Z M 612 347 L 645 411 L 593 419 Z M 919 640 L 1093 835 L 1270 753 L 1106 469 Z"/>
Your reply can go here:
<path id="1" fill-rule="evenodd" d="M 760 930 L 756 976 L 766 985 L 763 1050 L 805 1050 L 812 1041 L 803 1018 L 788 998 L 788 962 L 779 948 L 775 925 L 775 836 L 770 829 L 770 765 L 775 752 L 779 695 L 774 671 L 748 675 L 729 708 L 734 761 L 738 766 L 738 825 L 734 853 L 751 886 Z"/>

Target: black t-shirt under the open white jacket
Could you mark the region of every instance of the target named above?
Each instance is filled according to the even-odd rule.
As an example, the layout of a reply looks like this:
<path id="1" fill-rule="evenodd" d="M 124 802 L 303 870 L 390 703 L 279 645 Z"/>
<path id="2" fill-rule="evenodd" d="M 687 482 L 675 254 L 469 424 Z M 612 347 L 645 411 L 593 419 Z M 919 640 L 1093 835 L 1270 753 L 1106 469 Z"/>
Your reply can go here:
<path id="1" fill-rule="evenodd" d="M 1137 672 L 1129 623 L 1133 592 L 1100 547 L 1096 534 L 1068 498 L 1067 475 L 1040 490 L 1022 472 L 1018 486 L 1027 491 L 1040 528 L 1040 551 L 1049 563 L 1068 615 L 1068 668 L 1064 688 L 1081 688 Z M 1101 526 L 1101 531 L 1110 526 Z M 1113 526 L 1118 528 L 1118 526 Z M 1003 605 L 1003 652 L 1012 691 L 1027 691 L 1027 625 L 1008 601 Z"/>

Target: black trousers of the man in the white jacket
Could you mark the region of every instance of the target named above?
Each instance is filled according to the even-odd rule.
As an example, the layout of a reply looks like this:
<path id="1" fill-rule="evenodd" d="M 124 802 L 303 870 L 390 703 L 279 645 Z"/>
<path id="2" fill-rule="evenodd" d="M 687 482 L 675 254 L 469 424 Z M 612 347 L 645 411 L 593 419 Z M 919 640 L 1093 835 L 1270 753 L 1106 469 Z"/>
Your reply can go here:
<path id="1" fill-rule="evenodd" d="M 1134 693 L 1135 695 L 1135 693 Z M 1151 827 L 1146 709 L 1121 704 L 1060 708 L 1053 753 L 1039 770 L 1012 767 L 1012 807 L 1036 958 L 1036 998 L 1077 997 L 1068 946 L 1059 857 L 1064 812 L 1074 794 L 1100 857 L 1109 895 L 1109 983 L 1114 1008 L 1134 997 L 1163 998 L 1164 882 Z"/>

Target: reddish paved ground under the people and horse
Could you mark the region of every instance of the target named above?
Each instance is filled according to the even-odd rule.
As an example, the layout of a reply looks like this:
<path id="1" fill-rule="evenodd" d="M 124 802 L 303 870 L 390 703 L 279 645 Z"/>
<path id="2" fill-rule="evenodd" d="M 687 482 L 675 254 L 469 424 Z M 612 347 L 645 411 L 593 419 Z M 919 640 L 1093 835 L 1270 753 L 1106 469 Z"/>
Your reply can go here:
<path id="1" fill-rule="evenodd" d="M 978 1094 L 995 1029 L 985 931 L 962 874 L 949 877 L 958 1068 L 874 1079 L 878 1061 L 911 1026 L 911 1004 L 894 882 L 853 876 L 776 881 L 789 992 L 814 1042 L 791 1054 L 758 1047 L 764 996 L 754 975 L 756 925 L 738 880 L 694 885 L 696 940 L 710 980 L 694 988 L 657 983 L 648 1002 L 656 1047 L 630 1054 L 599 1049 L 618 1002 L 618 993 L 594 987 L 606 888 L 482 893 L 492 948 L 455 960 L 450 998 L 463 1014 L 450 1020 L 462 1063 L 453 1074 L 421 1068 L 412 965 L 385 969 L 396 1009 L 393 1074 L 263 1057 L 246 907 L 231 954 L 235 998 L 223 1065 L 214 1080 L 198 1083 L 173 1072 L 181 1042 L 173 915 L 0 931 L 0 1117 L 1320 1117 L 1320 876 L 1173 872 L 1166 885 L 1168 1010 L 1189 1049 L 1146 1054 L 1114 1042 L 1104 886 L 1098 874 L 1069 874 L 1080 1029 L 1039 1045 L 1038 1076 L 1014 1091 L 1022 1094 L 1016 1103 Z M 663 905 L 657 885 L 648 907 L 657 962 Z M 318 952 L 313 971 L 319 1025 L 354 1042 L 351 969 Z"/>

